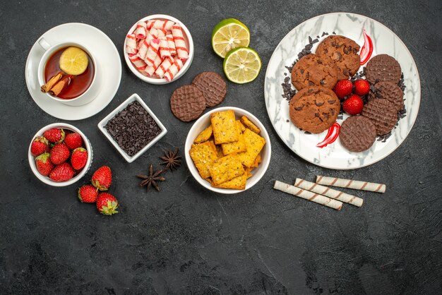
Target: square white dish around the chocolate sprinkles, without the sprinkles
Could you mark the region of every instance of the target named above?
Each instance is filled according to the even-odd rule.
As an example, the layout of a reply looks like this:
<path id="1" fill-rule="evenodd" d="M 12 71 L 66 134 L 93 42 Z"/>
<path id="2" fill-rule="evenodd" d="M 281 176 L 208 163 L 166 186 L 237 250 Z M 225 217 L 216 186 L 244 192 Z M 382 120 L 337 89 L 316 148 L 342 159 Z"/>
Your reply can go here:
<path id="1" fill-rule="evenodd" d="M 110 119 L 114 118 L 114 116 L 117 113 L 122 111 L 128 104 L 130 104 L 131 102 L 134 102 L 134 101 L 138 101 L 141 104 L 141 106 L 150 114 L 150 116 L 152 116 L 152 118 L 155 120 L 155 122 L 157 122 L 158 126 L 161 128 L 161 133 L 158 134 L 157 137 L 155 137 L 152 141 L 150 141 L 150 143 L 145 145 L 144 148 L 142 148 L 139 152 L 137 152 L 135 155 L 133 155 L 131 157 L 131 156 L 127 155 L 127 153 L 122 148 L 120 148 L 118 143 L 115 142 L 114 138 L 112 138 L 112 136 L 107 132 L 107 130 L 106 130 L 106 128 L 104 128 L 104 126 L 106 126 L 107 122 Z M 160 120 L 157 118 L 157 116 L 155 116 L 155 114 L 153 114 L 153 112 L 149 109 L 148 105 L 145 104 L 145 102 L 143 102 L 143 100 L 141 100 L 141 97 L 139 97 L 136 93 L 133 93 L 133 95 L 131 95 L 127 100 L 125 100 L 122 104 L 120 104 L 117 107 L 117 109 L 114 109 L 114 111 L 112 111 L 104 119 L 102 119 L 102 121 L 100 121 L 100 123 L 98 123 L 98 128 L 104 134 L 104 136 L 107 137 L 107 139 L 110 141 L 110 143 L 112 143 L 112 145 L 114 145 L 114 147 L 119 151 L 119 153 L 124 157 L 124 159 L 126 159 L 126 161 L 129 163 L 135 161 L 138 157 L 143 155 L 143 153 L 146 150 L 148 150 L 151 146 L 153 146 L 158 140 L 160 140 L 160 138 L 165 136 L 167 133 L 166 127 L 160 122 Z"/>

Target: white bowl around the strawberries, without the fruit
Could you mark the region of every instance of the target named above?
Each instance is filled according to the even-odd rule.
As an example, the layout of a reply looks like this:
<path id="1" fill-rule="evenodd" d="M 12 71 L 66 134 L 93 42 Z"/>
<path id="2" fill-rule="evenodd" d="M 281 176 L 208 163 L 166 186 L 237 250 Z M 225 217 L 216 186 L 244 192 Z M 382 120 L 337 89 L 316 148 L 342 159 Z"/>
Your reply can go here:
<path id="1" fill-rule="evenodd" d="M 42 176 L 40 172 L 37 170 L 37 167 L 35 166 L 35 157 L 32 156 L 30 152 L 30 147 L 32 145 L 32 141 L 37 136 L 43 136 L 44 131 L 47 131 L 51 128 L 63 128 L 69 131 L 74 131 L 78 134 L 80 134 L 81 138 L 83 138 L 83 144 L 85 146 L 85 149 L 88 151 L 88 161 L 85 164 L 85 167 L 78 173 L 76 176 L 74 176 L 72 179 L 69 179 L 68 181 L 61 181 L 56 182 L 52 181 L 48 176 Z M 89 139 L 84 135 L 83 132 L 80 131 L 80 129 L 76 128 L 75 126 L 72 126 L 71 124 L 65 124 L 65 123 L 54 123 L 49 124 L 47 126 L 44 126 L 41 128 L 37 133 L 35 133 L 35 136 L 32 137 L 32 140 L 29 144 L 29 150 L 28 150 L 28 159 L 29 159 L 29 165 L 32 172 L 34 172 L 35 176 L 37 176 L 37 179 L 40 179 L 40 181 L 49 184 L 49 186 L 70 186 L 72 183 L 76 183 L 78 180 L 80 180 L 86 173 L 88 173 L 88 170 L 90 169 L 90 165 L 92 164 L 92 145 L 90 145 Z"/>

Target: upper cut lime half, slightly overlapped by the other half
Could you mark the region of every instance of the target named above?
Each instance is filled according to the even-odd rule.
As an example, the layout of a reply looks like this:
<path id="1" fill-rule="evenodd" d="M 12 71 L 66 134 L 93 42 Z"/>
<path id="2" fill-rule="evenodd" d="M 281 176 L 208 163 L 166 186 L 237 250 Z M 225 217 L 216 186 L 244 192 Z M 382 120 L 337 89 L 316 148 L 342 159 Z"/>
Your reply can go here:
<path id="1" fill-rule="evenodd" d="M 221 20 L 212 31 L 212 47 L 223 59 L 226 54 L 237 47 L 248 47 L 250 43 L 249 29 L 234 18 Z"/>

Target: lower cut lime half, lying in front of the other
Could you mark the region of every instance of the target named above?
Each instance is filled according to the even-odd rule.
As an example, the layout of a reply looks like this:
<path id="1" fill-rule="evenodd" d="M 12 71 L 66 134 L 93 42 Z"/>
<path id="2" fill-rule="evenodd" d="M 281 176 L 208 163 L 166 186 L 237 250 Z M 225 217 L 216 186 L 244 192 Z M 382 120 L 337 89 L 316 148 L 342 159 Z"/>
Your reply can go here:
<path id="1" fill-rule="evenodd" d="M 249 47 L 239 47 L 227 54 L 222 64 L 227 79 L 237 84 L 249 83 L 258 77 L 261 59 Z"/>

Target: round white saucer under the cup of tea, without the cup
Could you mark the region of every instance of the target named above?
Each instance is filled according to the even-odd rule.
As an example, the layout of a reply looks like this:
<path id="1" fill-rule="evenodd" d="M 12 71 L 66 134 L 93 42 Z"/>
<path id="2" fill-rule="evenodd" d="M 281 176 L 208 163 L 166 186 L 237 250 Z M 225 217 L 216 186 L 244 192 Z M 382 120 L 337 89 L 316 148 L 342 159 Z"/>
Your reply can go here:
<path id="1" fill-rule="evenodd" d="M 76 40 L 88 46 L 95 56 L 97 67 L 100 67 L 100 74 L 97 75 L 95 82 L 100 84 L 100 91 L 92 102 L 73 107 L 49 100 L 47 95 L 40 91 L 37 68 L 44 49 L 38 44 L 38 40 L 42 37 L 49 44 Z M 106 79 L 104 79 L 104 73 L 106 73 Z M 48 30 L 37 38 L 26 61 L 25 78 L 30 96 L 44 112 L 59 119 L 81 120 L 99 113 L 112 101 L 121 80 L 121 60 L 117 47 L 101 30 L 84 23 L 65 23 Z"/>

